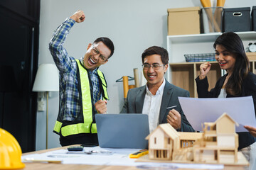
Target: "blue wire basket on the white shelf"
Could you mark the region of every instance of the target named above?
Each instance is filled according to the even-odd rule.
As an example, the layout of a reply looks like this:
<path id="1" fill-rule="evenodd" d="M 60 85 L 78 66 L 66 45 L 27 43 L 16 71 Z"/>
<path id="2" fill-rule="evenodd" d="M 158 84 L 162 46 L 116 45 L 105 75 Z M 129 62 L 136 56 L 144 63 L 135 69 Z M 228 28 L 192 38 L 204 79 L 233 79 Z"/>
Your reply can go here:
<path id="1" fill-rule="evenodd" d="M 186 62 L 213 62 L 215 53 L 190 54 L 184 55 Z"/>

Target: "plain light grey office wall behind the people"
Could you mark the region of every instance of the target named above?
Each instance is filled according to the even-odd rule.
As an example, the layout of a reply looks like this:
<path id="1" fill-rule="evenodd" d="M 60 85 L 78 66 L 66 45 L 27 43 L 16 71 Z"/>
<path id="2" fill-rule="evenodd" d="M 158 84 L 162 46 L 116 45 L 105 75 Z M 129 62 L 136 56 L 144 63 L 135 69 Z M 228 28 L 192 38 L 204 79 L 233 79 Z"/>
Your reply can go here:
<path id="1" fill-rule="evenodd" d="M 225 7 L 255 6 L 255 0 L 226 0 Z M 83 57 L 88 43 L 107 36 L 114 42 L 114 55 L 100 69 L 105 73 L 110 101 L 109 113 L 119 113 L 123 105 L 122 76 L 142 72 L 142 52 L 152 45 L 166 48 L 167 8 L 200 6 L 199 0 L 42 0 L 40 18 L 39 64 L 53 63 L 48 42 L 53 30 L 76 10 L 85 12 L 85 22 L 76 23 L 65 41 L 68 54 Z M 140 77 L 140 76 L 139 76 Z M 134 84 L 134 81 L 129 81 Z M 51 93 L 48 106 L 48 147 L 59 147 L 53 126 L 58 115 L 58 92 Z M 46 111 L 37 113 L 36 150 L 46 146 Z"/>

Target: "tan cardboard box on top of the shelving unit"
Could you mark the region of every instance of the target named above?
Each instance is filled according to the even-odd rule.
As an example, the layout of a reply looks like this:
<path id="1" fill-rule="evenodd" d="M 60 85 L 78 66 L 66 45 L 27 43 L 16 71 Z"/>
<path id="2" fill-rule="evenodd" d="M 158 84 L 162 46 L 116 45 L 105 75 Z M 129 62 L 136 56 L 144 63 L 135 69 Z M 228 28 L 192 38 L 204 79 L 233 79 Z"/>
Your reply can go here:
<path id="1" fill-rule="evenodd" d="M 168 35 L 200 34 L 200 7 L 169 8 Z"/>

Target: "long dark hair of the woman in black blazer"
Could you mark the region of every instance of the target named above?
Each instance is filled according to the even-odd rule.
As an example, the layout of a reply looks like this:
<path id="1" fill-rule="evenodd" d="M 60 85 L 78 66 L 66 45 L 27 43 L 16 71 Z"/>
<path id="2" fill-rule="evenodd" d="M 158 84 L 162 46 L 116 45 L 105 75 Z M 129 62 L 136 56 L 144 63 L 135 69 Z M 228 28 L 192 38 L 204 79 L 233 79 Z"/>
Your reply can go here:
<path id="1" fill-rule="evenodd" d="M 216 49 L 216 45 L 222 45 L 235 57 L 233 74 L 228 79 L 225 90 L 227 94 L 240 96 L 242 92 L 242 80 L 250 72 L 250 62 L 245 54 L 242 40 L 236 33 L 228 32 L 223 33 L 215 40 L 213 44 L 214 49 Z"/>

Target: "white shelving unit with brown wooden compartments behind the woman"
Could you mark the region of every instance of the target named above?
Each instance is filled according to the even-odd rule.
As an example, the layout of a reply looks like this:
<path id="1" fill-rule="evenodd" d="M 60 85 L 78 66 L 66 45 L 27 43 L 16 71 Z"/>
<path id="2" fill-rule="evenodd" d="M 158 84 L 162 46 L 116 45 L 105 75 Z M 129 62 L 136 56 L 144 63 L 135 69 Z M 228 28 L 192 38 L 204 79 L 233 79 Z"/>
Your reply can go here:
<path id="1" fill-rule="evenodd" d="M 190 92 L 191 97 L 197 97 L 196 77 L 199 75 L 199 67 L 203 62 L 186 62 L 185 54 L 213 53 L 213 43 L 222 33 L 208 33 L 196 35 L 169 35 L 167 36 L 167 49 L 169 52 L 170 69 L 166 78 L 172 84 L 186 89 Z M 247 47 L 249 42 L 256 40 L 256 32 L 238 32 L 237 33 L 244 46 Z M 250 56 L 256 57 L 256 52 L 250 52 Z M 251 72 L 256 74 L 256 60 L 251 57 Z M 218 62 L 210 62 L 212 67 L 208 73 L 209 89 L 215 86 L 216 81 L 221 77 L 222 70 Z"/>

